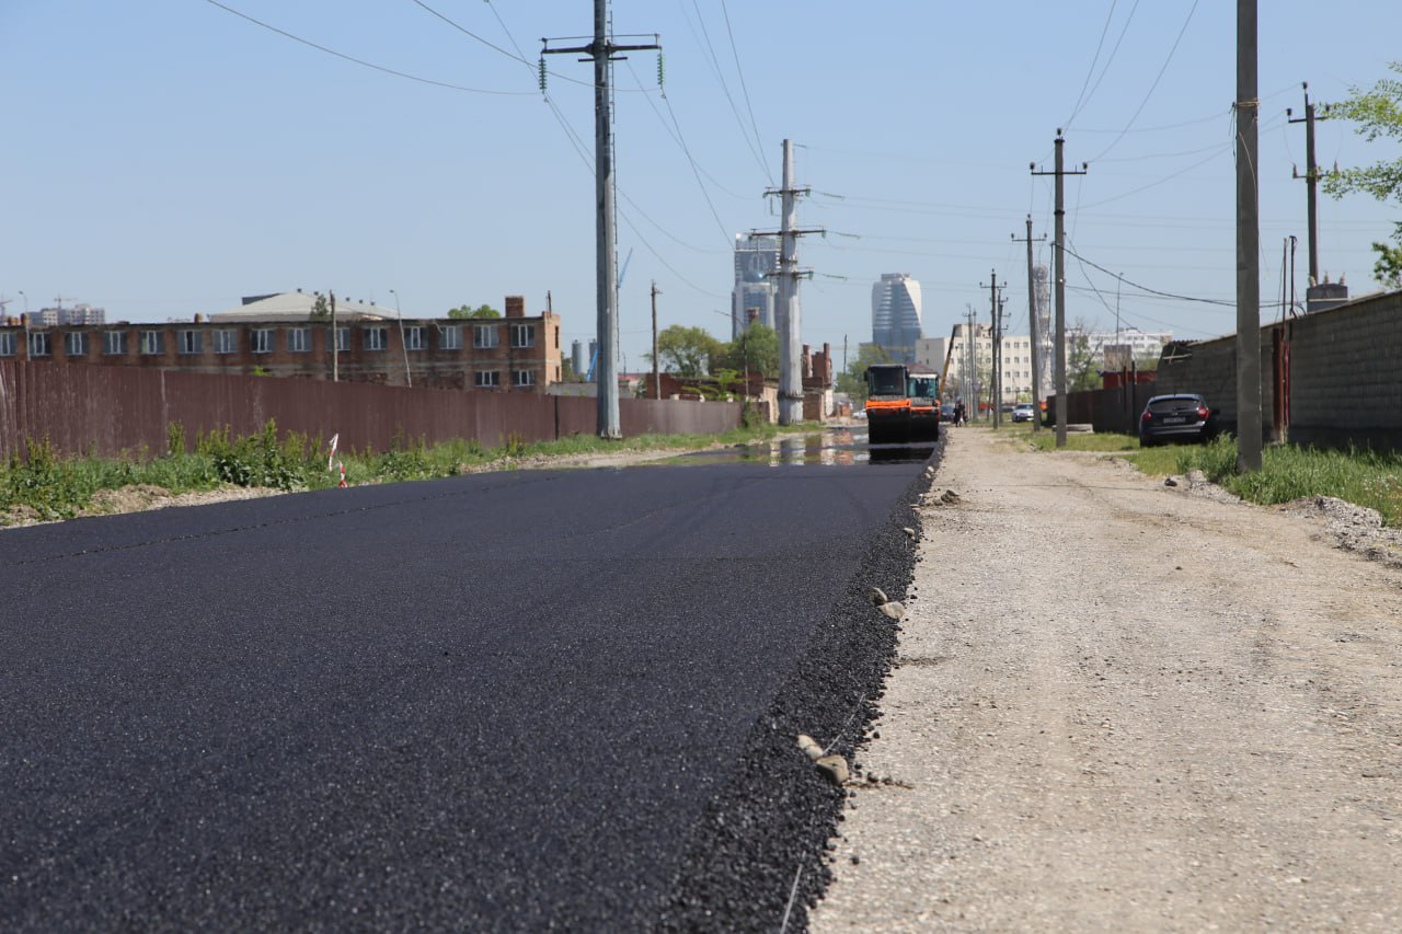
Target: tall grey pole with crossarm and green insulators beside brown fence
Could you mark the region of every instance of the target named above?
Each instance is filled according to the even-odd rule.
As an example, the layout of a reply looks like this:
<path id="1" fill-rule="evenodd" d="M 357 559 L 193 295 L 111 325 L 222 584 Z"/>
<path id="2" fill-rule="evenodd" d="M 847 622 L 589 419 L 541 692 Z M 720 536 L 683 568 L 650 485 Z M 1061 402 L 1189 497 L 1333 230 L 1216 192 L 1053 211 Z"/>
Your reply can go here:
<path id="1" fill-rule="evenodd" d="M 550 48 L 541 39 L 541 74 L 545 55 L 578 53 L 594 63 L 594 299 L 599 309 L 599 428 L 600 438 L 620 439 L 618 426 L 618 257 L 614 248 L 614 177 L 613 177 L 613 93 L 611 62 L 617 52 L 660 49 L 658 36 L 651 45 L 617 45 L 608 35 L 608 0 L 594 0 L 594 41 L 589 45 Z M 586 60 L 586 59 L 580 59 Z M 544 81 L 544 77 L 541 79 Z"/>

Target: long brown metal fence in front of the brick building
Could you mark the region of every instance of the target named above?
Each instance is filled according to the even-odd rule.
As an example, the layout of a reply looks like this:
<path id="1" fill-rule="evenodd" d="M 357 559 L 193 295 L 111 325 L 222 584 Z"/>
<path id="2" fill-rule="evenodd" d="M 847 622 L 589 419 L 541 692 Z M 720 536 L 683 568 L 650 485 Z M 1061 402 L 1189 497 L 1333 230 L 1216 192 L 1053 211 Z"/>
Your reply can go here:
<path id="1" fill-rule="evenodd" d="M 346 449 L 388 450 L 509 436 L 554 440 L 597 428 L 593 398 L 475 393 L 370 383 L 178 373 L 125 366 L 0 360 L 0 457 L 24 456 L 28 439 L 63 454 L 164 454 L 178 422 L 186 445 L 199 433 L 251 435 L 272 419 L 279 435 L 339 435 Z M 620 400 L 625 436 L 718 433 L 739 426 L 739 402 Z"/>

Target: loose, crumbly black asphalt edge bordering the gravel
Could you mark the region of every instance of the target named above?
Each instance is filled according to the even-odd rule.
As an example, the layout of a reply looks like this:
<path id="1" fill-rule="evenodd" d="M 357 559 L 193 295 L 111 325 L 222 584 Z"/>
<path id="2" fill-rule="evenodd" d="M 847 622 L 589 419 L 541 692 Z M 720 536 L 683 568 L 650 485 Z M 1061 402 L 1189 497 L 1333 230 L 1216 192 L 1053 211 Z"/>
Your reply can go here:
<path id="1" fill-rule="evenodd" d="M 916 503 L 932 482 L 944 446 L 941 439 L 869 534 L 857 574 L 746 738 L 729 780 L 687 843 L 655 930 L 808 930 L 808 910 L 833 879 L 827 844 L 857 792 L 816 769 L 798 736 L 809 735 L 851 763 L 879 714 L 900 623 L 876 609 L 869 589 L 907 599 L 921 536 Z"/>

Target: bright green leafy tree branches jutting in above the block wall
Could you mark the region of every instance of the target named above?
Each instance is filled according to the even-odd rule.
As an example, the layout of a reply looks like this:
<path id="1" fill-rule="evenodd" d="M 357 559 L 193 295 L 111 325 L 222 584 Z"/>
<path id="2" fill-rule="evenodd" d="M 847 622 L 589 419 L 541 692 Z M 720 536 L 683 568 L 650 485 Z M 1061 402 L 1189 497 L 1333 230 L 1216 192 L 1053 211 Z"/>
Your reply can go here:
<path id="1" fill-rule="evenodd" d="M 1402 74 L 1402 62 L 1389 62 L 1388 67 Z M 1359 135 L 1370 143 L 1380 136 L 1402 142 L 1402 81 L 1381 79 L 1368 90 L 1352 87 L 1349 98 L 1335 104 L 1329 115 L 1357 123 Z M 1402 201 L 1402 156 L 1329 172 L 1325 175 L 1323 189 L 1335 198 L 1364 192 L 1378 201 Z M 1392 231 L 1392 240 L 1396 245 L 1373 244 L 1378 254 L 1373 275 L 1384 287 L 1402 289 L 1402 223 Z"/>

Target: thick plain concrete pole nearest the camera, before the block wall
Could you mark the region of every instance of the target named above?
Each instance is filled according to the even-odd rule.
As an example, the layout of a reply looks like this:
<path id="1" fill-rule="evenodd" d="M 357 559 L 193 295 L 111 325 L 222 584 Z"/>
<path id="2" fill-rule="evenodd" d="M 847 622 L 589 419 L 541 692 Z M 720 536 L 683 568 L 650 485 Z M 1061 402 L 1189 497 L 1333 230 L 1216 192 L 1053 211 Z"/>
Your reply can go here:
<path id="1" fill-rule="evenodd" d="M 1256 0 L 1237 0 L 1237 470 L 1260 470 Z"/>

